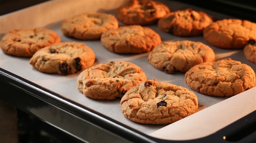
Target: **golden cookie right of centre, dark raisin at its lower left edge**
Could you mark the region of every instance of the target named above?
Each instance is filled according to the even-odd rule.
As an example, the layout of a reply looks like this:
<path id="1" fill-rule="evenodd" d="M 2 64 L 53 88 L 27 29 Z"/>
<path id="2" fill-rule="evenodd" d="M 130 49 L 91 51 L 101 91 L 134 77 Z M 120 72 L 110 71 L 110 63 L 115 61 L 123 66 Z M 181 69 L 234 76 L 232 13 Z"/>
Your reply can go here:
<path id="1" fill-rule="evenodd" d="M 156 68 L 166 72 L 188 71 L 191 67 L 215 59 L 213 50 L 194 41 L 165 41 L 152 50 L 148 61 Z"/>

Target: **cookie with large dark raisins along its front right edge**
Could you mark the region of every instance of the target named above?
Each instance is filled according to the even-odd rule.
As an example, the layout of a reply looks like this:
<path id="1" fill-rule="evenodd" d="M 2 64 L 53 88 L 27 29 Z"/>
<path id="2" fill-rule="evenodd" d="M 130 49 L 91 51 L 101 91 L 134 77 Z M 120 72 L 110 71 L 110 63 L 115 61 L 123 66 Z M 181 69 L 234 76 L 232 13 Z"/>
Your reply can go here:
<path id="1" fill-rule="evenodd" d="M 78 42 L 62 42 L 38 50 L 30 64 L 38 71 L 68 75 L 93 65 L 95 54 L 90 47 Z"/>

